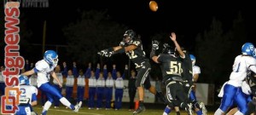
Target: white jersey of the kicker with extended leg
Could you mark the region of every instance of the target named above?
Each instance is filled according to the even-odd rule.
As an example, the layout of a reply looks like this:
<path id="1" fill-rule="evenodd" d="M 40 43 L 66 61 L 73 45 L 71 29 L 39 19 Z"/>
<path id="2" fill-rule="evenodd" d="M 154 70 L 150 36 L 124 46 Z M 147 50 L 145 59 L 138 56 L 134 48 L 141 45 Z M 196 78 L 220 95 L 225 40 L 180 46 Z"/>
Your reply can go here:
<path id="1" fill-rule="evenodd" d="M 43 83 L 49 82 L 49 72 L 52 72 L 57 65 L 49 66 L 45 60 L 39 60 L 35 68 L 38 70 L 38 88 Z"/>

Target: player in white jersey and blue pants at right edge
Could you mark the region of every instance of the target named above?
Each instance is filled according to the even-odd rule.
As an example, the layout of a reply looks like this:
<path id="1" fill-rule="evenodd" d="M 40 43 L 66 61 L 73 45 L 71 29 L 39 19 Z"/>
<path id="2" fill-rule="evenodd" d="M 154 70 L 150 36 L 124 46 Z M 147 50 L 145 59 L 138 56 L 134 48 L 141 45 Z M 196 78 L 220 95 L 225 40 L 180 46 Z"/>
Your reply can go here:
<path id="1" fill-rule="evenodd" d="M 241 55 L 237 55 L 233 64 L 233 71 L 230 80 L 224 85 L 224 95 L 221 105 L 214 115 L 221 115 L 236 102 L 239 111 L 235 115 L 242 115 L 247 112 L 247 97 L 241 90 L 241 84 L 247 77 L 248 70 L 256 72 L 256 60 L 253 43 L 244 43 L 241 47 Z"/>

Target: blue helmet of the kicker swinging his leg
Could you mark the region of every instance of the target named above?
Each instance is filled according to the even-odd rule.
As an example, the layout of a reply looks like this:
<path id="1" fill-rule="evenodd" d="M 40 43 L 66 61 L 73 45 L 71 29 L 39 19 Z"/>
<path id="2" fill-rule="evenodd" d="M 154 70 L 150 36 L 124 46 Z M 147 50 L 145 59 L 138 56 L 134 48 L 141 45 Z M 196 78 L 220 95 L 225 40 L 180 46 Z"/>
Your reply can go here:
<path id="1" fill-rule="evenodd" d="M 44 53 L 44 60 L 50 65 L 58 64 L 58 55 L 54 50 L 47 50 Z"/>

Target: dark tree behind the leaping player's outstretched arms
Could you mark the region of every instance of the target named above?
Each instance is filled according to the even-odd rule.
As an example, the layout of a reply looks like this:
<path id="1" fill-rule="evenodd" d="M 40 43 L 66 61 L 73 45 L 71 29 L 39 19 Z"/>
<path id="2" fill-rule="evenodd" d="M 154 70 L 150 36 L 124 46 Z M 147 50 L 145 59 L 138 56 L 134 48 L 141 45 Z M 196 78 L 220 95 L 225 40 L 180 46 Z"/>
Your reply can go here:
<path id="1" fill-rule="evenodd" d="M 125 26 L 111 20 L 107 11 L 84 11 L 80 20 L 63 28 L 67 54 L 79 62 L 96 63 L 97 52 L 119 45 L 125 30 Z"/>

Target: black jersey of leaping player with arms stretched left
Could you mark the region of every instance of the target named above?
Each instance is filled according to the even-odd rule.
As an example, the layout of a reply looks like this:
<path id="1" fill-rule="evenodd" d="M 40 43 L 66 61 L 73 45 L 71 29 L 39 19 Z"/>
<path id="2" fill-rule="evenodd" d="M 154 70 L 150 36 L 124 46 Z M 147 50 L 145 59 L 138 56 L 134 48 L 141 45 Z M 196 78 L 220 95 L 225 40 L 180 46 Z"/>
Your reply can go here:
<path id="1" fill-rule="evenodd" d="M 122 44 L 122 42 L 120 43 Z M 130 60 L 136 65 L 136 66 L 140 66 L 143 61 L 148 61 L 148 59 L 146 58 L 146 54 L 143 51 L 143 43 L 140 39 L 136 39 L 134 40 L 131 44 L 136 45 L 137 49 L 133 49 L 129 52 L 126 52 L 126 55 L 129 56 Z M 130 44 L 130 45 L 131 45 Z M 128 46 L 128 44 L 124 44 L 121 46 Z"/>

